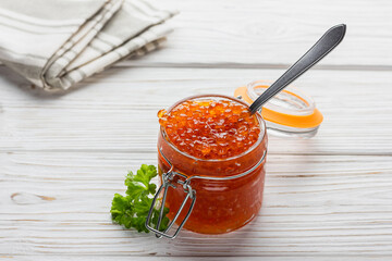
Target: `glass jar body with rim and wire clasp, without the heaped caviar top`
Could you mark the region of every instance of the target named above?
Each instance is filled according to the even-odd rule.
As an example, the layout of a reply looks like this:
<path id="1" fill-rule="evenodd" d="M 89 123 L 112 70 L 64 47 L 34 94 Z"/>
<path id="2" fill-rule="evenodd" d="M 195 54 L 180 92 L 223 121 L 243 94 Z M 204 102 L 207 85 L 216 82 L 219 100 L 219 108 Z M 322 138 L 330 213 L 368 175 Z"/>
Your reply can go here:
<path id="1" fill-rule="evenodd" d="M 233 97 L 203 95 L 181 100 L 168 112 L 192 99 L 226 99 L 248 107 Z M 170 209 L 168 217 L 180 227 L 173 236 L 152 229 L 157 236 L 173 238 L 182 226 L 203 234 L 228 233 L 257 215 L 262 202 L 267 133 L 261 115 L 255 116 L 260 127 L 257 141 L 245 152 L 226 159 L 206 160 L 187 154 L 171 144 L 164 128 L 160 128 L 158 170 L 162 186 L 157 196 L 164 190 L 162 203 Z"/>

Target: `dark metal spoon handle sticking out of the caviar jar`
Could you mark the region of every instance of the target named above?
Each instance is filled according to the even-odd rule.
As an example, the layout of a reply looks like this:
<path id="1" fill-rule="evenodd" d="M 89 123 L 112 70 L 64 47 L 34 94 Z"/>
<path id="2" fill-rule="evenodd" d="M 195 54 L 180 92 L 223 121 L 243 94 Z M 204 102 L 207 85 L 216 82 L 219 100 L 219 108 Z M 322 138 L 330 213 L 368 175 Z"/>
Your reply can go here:
<path id="1" fill-rule="evenodd" d="M 333 26 L 327 30 L 296 63 L 252 103 L 250 113 L 255 113 L 264 103 L 332 51 L 343 40 L 345 30 L 345 24 Z"/>

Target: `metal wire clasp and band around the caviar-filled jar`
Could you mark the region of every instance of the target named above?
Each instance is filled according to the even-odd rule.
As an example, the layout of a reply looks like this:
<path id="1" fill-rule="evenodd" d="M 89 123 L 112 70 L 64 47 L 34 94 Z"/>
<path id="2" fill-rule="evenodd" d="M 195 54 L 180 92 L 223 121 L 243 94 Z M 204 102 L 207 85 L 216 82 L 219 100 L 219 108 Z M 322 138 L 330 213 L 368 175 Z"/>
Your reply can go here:
<path id="1" fill-rule="evenodd" d="M 259 167 L 261 165 L 261 163 L 265 161 L 266 156 L 267 156 L 267 149 L 265 149 L 264 154 L 261 157 L 261 159 L 249 170 L 247 170 L 246 172 L 240 173 L 237 175 L 233 175 L 233 176 L 224 176 L 224 177 L 217 177 L 217 176 L 186 176 L 182 173 L 179 172 L 174 172 L 174 166 L 173 164 L 171 164 L 171 162 L 168 160 L 168 158 L 164 157 L 164 154 L 162 153 L 162 148 L 158 148 L 159 149 L 159 153 L 162 156 L 162 158 L 164 159 L 166 162 L 168 162 L 168 164 L 170 165 L 170 169 L 168 172 L 162 174 L 162 185 L 159 187 L 158 191 L 156 192 L 156 195 L 154 196 L 152 202 L 151 202 L 151 207 L 148 211 L 148 215 L 147 215 L 147 220 L 146 220 L 146 227 L 147 229 L 154 232 L 156 234 L 157 238 L 161 238 L 161 237 L 167 237 L 167 238 L 171 238 L 174 239 L 180 231 L 182 229 L 182 227 L 184 226 L 185 222 L 187 221 L 187 219 L 189 217 L 192 210 L 195 206 L 196 202 L 196 190 L 193 189 L 191 187 L 191 181 L 192 179 L 208 179 L 208 181 L 230 181 L 230 179 L 235 179 L 238 177 L 243 177 L 246 176 L 247 174 L 254 172 L 257 167 Z M 176 178 L 177 176 L 177 178 Z M 167 194 L 168 194 L 168 189 L 169 187 L 172 188 L 176 188 L 176 185 L 174 185 L 174 183 L 182 185 L 184 192 L 186 194 L 183 202 L 180 206 L 179 211 L 175 213 L 174 219 L 169 223 L 168 227 L 164 231 L 159 231 L 159 226 L 162 222 L 162 217 L 163 217 L 163 210 L 164 210 L 164 202 L 166 202 L 166 198 L 167 198 Z M 162 189 L 164 189 L 163 191 L 163 197 L 162 197 L 162 202 L 159 209 L 159 216 L 158 216 L 158 222 L 157 222 L 157 226 L 152 227 L 149 225 L 150 221 L 151 221 L 151 215 L 152 215 L 152 211 L 154 211 L 154 207 L 157 202 L 157 199 L 159 197 L 159 195 L 161 194 Z M 171 227 L 174 225 L 175 221 L 179 219 L 180 214 L 182 213 L 185 203 L 188 201 L 191 201 L 191 206 L 185 215 L 185 217 L 183 219 L 183 221 L 181 222 L 181 224 L 179 225 L 177 229 L 174 232 L 174 234 L 170 235 L 168 232 L 171 229 Z"/>

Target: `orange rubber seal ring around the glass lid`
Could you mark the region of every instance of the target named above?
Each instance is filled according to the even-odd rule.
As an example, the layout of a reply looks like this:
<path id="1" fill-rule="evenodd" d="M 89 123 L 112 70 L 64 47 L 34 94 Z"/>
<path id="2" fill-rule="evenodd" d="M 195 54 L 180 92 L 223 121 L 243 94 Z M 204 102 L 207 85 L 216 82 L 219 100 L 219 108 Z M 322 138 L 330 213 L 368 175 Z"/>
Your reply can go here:
<path id="1" fill-rule="evenodd" d="M 298 99 L 303 100 L 307 103 L 306 100 L 298 97 L 297 95 L 289 91 L 289 90 L 282 90 L 284 92 L 287 92 L 292 96 L 297 97 Z M 244 101 L 252 104 L 253 100 L 248 97 L 246 91 L 246 86 L 240 87 L 235 89 L 234 96 L 238 97 L 241 96 Z M 314 128 L 321 124 L 322 122 L 322 114 L 319 110 L 315 108 L 314 112 L 309 115 L 293 115 L 293 114 L 286 114 L 281 113 L 277 111 L 272 111 L 268 108 L 262 108 L 261 110 L 261 116 L 269 122 L 273 122 L 279 125 L 290 126 L 290 127 L 296 127 L 296 128 Z"/>

